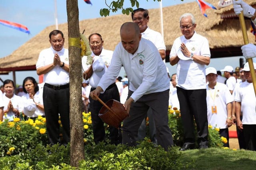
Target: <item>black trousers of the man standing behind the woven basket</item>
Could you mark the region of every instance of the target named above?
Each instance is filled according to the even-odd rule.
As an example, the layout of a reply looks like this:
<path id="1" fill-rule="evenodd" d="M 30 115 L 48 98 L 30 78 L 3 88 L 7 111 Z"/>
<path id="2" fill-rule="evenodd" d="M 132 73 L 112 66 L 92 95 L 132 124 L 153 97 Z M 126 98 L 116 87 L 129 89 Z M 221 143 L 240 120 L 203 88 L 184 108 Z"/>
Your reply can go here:
<path id="1" fill-rule="evenodd" d="M 95 90 L 95 88 L 91 88 L 91 91 Z M 110 85 L 104 93 L 100 93 L 99 98 L 106 103 L 110 99 L 115 99 L 120 101 L 120 95 L 118 92 L 118 88 L 116 83 Z M 106 138 L 104 122 L 98 116 L 100 109 L 102 108 L 102 104 L 99 101 L 93 100 L 91 97 L 90 99 L 90 112 L 92 116 L 92 131 L 94 136 L 95 144 L 98 144 L 101 141 L 104 141 Z M 122 142 L 122 132 L 121 132 L 121 125 L 120 128 L 117 129 L 115 127 L 109 127 L 110 131 L 110 143 L 111 144 L 121 144 Z"/>

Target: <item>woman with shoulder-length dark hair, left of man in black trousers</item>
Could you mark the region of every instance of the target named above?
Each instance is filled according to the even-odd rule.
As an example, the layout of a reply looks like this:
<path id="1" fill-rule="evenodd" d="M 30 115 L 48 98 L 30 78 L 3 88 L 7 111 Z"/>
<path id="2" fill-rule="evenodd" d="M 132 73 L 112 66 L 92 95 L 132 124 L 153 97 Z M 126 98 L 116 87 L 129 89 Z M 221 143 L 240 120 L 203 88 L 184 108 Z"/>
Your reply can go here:
<path id="1" fill-rule="evenodd" d="M 26 93 L 22 96 L 22 101 L 24 101 L 23 113 L 34 119 L 38 116 L 44 116 L 42 91 L 39 91 L 38 84 L 33 77 L 26 77 L 23 80 L 23 91 Z"/>

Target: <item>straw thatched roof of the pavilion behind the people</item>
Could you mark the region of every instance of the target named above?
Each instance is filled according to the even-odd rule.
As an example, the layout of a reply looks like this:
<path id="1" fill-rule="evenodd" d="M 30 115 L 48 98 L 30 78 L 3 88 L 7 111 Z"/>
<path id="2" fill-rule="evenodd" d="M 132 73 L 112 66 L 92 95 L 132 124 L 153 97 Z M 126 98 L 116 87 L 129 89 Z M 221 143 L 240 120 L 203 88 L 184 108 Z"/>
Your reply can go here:
<path id="1" fill-rule="evenodd" d="M 218 6 L 217 0 L 207 0 L 207 2 L 216 7 Z M 254 0 L 247 0 L 246 2 L 256 6 Z M 175 38 L 182 35 L 179 28 L 179 18 L 185 12 L 194 14 L 197 23 L 196 32 L 208 39 L 212 57 L 241 55 L 240 47 L 244 45 L 244 41 L 240 22 L 238 17 L 229 18 L 230 16 L 235 16 L 233 6 L 219 10 L 208 9 L 206 10 L 208 18 L 206 18 L 202 15 L 197 2 L 163 8 L 164 41 L 167 51 L 171 49 Z M 149 16 L 148 26 L 153 30 L 161 32 L 159 9 L 149 10 Z M 86 37 L 94 32 L 100 33 L 104 39 L 104 48 L 114 50 L 117 43 L 120 42 L 120 26 L 124 22 L 130 21 L 130 15 L 121 14 L 106 18 L 82 20 L 79 26 L 80 32 L 85 30 L 84 34 Z M 60 24 L 58 28 L 64 33 L 66 40 L 64 47 L 68 48 L 68 24 Z M 255 37 L 250 33 L 250 20 L 246 20 L 246 28 L 249 42 L 254 42 Z M 0 59 L 0 71 L 35 70 L 40 51 L 50 47 L 48 35 L 54 29 L 55 26 L 45 28 L 12 54 Z"/>

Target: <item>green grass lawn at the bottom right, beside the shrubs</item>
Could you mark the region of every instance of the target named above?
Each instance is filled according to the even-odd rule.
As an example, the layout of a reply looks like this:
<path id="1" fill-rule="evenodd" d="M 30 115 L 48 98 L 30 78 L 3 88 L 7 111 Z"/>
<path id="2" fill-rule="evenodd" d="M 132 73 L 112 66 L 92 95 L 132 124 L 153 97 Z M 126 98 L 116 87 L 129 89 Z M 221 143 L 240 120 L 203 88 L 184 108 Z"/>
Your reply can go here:
<path id="1" fill-rule="evenodd" d="M 184 162 L 193 162 L 187 169 L 191 170 L 254 170 L 256 169 L 256 152 L 250 150 L 232 150 L 208 148 L 203 150 L 186 150 Z"/>

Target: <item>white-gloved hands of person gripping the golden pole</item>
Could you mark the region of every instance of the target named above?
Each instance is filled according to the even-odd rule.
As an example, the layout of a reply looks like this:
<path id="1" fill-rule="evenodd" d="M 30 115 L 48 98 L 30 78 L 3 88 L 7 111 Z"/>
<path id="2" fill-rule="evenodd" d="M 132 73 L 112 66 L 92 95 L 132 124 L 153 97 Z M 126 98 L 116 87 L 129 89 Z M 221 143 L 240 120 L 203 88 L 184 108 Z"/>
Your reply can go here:
<path id="1" fill-rule="evenodd" d="M 252 6 L 248 5 L 242 0 L 233 0 L 234 12 L 236 15 L 241 14 L 243 11 L 244 16 L 251 18 L 252 22 L 256 24 L 256 10 Z M 252 43 L 248 43 L 241 47 L 243 56 L 248 59 L 256 57 L 256 46 Z"/>

